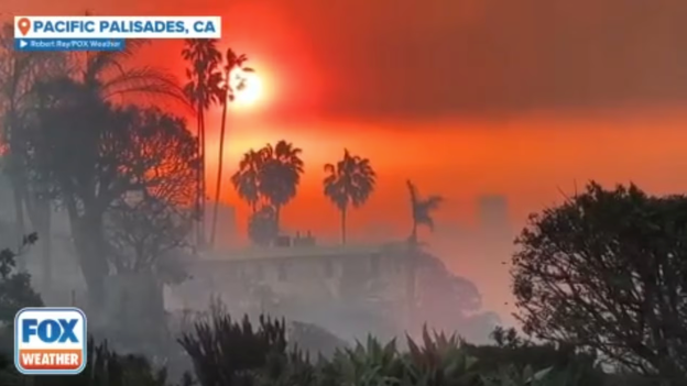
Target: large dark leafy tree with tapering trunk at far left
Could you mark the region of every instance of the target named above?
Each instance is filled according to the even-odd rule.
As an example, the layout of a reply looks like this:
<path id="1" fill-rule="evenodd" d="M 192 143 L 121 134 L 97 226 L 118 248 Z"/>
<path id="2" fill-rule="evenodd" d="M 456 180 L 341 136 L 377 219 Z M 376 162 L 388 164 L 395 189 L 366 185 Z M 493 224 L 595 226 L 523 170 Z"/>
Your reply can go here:
<path id="1" fill-rule="evenodd" d="M 172 178 L 156 173 L 168 161 L 160 156 L 164 152 L 155 142 L 141 142 L 141 132 L 168 128 L 151 121 L 157 113 L 112 108 L 70 79 L 44 85 L 39 92 L 34 166 L 58 190 L 89 298 L 99 307 L 109 273 L 103 216 L 128 191 Z"/>

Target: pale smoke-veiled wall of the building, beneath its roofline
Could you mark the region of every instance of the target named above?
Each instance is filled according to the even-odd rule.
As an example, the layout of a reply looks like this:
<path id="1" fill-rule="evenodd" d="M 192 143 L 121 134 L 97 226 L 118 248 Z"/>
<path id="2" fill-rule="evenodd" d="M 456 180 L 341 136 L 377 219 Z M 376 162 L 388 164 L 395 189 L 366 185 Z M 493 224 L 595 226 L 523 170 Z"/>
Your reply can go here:
<path id="1" fill-rule="evenodd" d="M 198 261 L 190 269 L 192 279 L 170 290 L 168 308 L 204 309 L 212 294 L 236 305 L 254 297 L 257 284 L 309 308 L 372 298 L 403 301 L 407 277 L 405 256 L 385 251 Z"/>

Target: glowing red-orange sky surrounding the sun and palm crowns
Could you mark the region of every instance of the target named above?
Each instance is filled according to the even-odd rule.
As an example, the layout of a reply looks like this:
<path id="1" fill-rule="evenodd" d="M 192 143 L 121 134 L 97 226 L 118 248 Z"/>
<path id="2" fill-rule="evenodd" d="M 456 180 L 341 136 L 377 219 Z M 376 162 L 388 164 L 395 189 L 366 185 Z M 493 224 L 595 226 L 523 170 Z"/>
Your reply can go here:
<path id="1" fill-rule="evenodd" d="M 373 3 L 198 0 L 189 12 L 167 1 L 6 0 L 1 11 L 221 15 L 222 41 L 249 56 L 266 97 L 229 118 L 227 163 L 268 141 L 302 147 L 306 178 L 285 209 L 286 228 L 327 236 L 336 236 L 338 217 L 320 194 L 321 165 L 344 147 L 379 172 L 377 194 L 350 217 L 352 239 L 379 229 L 405 234 L 406 178 L 444 195 L 428 240 L 476 280 L 487 308 L 505 310 L 504 258 L 449 242 L 473 222 L 479 195 L 506 196 L 522 225 L 528 212 L 558 201 L 559 189 L 590 178 L 687 190 L 684 1 Z M 181 42 L 155 43 L 137 60 L 181 76 L 179 49 Z M 225 198 L 244 221 L 233 194 Z"/>

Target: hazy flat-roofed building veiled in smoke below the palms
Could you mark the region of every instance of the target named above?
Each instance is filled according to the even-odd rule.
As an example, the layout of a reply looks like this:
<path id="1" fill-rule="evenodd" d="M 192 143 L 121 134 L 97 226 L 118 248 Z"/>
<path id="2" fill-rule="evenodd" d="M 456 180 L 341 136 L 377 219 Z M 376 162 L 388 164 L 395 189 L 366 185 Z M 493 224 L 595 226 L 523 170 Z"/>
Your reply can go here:
<path id="1" fill-rule="evenodd" d="M 210 296 L 219 295 L 235 315 L 285 316 L 328 326 L 342 338 L 356 330 L 361 308 L 403 315 L 406 243 L 318 245 L 308 233 L 286 239 L 188 262 L 192 279 L 167 290 L 166 308 L 206 309 Z"/>

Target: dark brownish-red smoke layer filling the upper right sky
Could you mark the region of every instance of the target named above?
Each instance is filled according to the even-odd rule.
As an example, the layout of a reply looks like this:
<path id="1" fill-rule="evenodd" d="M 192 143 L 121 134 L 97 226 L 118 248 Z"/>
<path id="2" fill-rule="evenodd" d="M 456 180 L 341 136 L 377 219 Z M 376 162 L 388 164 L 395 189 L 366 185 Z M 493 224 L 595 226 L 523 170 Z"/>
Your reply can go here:
<path id="1" fill-rule="evenodd" d="M 293 0 L 329 117 L 426 119 L 687 99 L 685 0 Z M 288 60 L 285 58 L 284 60 Z M 284 106 L 284 114 L 299 114 Z"/>

